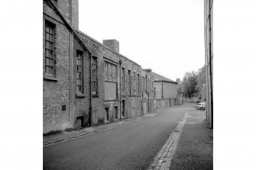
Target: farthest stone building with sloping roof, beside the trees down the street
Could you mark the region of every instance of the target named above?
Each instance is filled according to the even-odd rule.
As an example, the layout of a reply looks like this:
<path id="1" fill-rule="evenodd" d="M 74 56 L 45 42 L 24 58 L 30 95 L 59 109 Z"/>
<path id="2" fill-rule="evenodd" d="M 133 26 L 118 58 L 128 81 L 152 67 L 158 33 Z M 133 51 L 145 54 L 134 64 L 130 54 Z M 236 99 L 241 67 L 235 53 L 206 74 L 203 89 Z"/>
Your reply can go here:
<path id="1" fill-rule="evenodd" d="M 153 76 L 154 81 L 154 92 L 155 92 L 155 102 L 154 108 L 171 107 L 177 105 L 177 82 L 167 79 L 162 75 L 158 75 L 152 72 L 151 69 L 145 69 L 151 76 Z"/>

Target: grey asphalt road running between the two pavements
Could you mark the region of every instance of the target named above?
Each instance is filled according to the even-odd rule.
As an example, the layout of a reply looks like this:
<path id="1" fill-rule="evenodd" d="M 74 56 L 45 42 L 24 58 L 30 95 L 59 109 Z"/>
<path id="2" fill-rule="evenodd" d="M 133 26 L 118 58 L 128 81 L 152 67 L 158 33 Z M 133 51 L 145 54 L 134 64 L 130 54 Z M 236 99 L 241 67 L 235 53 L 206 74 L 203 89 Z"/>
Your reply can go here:
<path id="1" fill-rule="evenodd" d="M 147 169 L 188 107 L 169 107 L 149 119 L 44 147 L 44 169 Z"/>

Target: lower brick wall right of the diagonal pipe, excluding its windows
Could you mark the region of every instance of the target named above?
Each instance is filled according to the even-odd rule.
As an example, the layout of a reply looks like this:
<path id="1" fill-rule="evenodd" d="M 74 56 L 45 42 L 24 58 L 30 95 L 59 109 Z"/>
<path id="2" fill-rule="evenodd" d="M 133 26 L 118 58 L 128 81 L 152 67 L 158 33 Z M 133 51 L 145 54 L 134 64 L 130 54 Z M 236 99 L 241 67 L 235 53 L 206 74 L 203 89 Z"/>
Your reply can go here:
<path id="1" fill-rule="evenodd" d="M 93 40 L 91 37 L 83 34 L 80 31 L 77 31 L 83 43 L 86 44 L 86 47 L 91 51 L 92 56 L 97 57 L 98 61 L 98 96 L 96 98 L 92 98 L 92 119 L 93 123 L 99 123 L 100 120 L 105 120 L 105 107 L 109 107 L 109 116 L 111 120 L 115 120 L 112 117 L 115 117 L 115 107 L 118 107 L 118 119 L 120 118 L 120 65 L 119 59 L 122 60 L 122 68 L 125 68 L 125 91 L 122 91 L 122 99 L 125 100 L 125 118 L 128 117 L 138 117 L 142 115 L 142 103 L 141 103 L 141 95 L 142 91 L 138 93 L 138 89 L 136 89 L 136 94 L 134 94 L 134 72 L 136 75 L 140 75 L 140 85 L 142 89 L 142 76 L 148 79 L 151 79 L 151 75 L 141 69 L 137 63 L 134 63 L 130 59 L 115 53 L 115 51 L 110 50 L 108 47 L 105 47 L 102 43 Z M 104 101 L 105 96 L 105 77 L 104 77 L 104 63 L 105 59 L 109 59 L 112 62 L 117 64 L 117 96 L 118 100 L 114 101 Z M 131 70 L 131 95 L 128 94 L 128 70 Z M 138 79 L 135 81 L 135 85 L 138 85 Z M 136 86 L 135 86 L 136 87 Z M 150 95 L 153 93 L 151 91 Z M 152 101 L 148 104 L 151 107 L 154 107 Z M 96 108 L 95 108 L 96 107 Z M 152 111 L 152 108 L 150 109 Z M 94 118 L 93 118 L 94 117 Z"/>

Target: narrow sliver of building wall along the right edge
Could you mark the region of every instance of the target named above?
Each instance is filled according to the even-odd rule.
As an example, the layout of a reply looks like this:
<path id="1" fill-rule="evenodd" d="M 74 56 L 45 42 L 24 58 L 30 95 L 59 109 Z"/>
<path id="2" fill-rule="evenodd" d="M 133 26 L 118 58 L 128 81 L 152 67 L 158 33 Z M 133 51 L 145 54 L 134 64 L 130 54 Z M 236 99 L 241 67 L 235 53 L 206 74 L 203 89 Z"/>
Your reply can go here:
<path id="1" fill-rule="evenodd" d="M 206 66 L 206 117 L 213 128 L 213 0 L 204 2 L 205 66 Z"/>

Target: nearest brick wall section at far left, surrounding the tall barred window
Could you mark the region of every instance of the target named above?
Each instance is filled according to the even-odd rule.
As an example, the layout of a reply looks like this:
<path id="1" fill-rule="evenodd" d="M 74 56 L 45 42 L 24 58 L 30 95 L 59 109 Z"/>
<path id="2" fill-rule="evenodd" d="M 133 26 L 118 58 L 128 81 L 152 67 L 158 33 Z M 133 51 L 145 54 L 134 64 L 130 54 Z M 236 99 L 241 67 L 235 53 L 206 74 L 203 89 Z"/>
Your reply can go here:
<path id="1" fill-rule="evenodd" d="M 45 11 L 53 13 L 50 8 L 45 7 Z M 57 18 L 53 15 L 56 20 Z M 45 30 L 45 20 L 53 21 L 44 15 L 43 30 Z M 57 81 L 44 79 L 43 82 L 43 121 L 44 133 L 50 130 L 59 130 L 69 127 L 69 30 L 60 22 L 55 24 L 54 48 L 56 55 L 56 78 Z M 45 33 L 43 31 L 43 68 L 44 68 L 44 48 Z M 44 69 L 43 69 L 44 75 Z M 62 111 L 62 106 L 66 106 L 66 111 Z"/>

